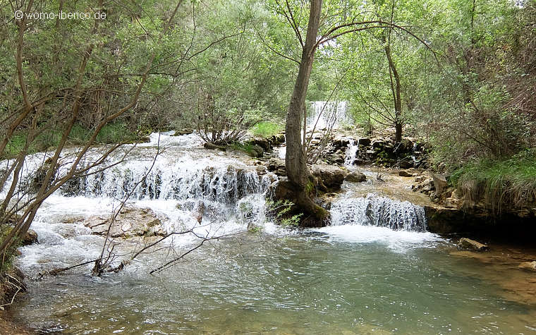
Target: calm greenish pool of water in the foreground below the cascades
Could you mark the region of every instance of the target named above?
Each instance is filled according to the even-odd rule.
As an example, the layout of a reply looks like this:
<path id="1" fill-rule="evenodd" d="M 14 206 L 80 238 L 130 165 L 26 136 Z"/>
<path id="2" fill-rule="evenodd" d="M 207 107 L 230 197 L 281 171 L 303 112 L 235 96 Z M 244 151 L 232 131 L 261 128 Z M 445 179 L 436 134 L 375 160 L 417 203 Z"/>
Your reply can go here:
<path id="1" fill-rule="evenodd" d="M 499 286 L 475 275 L 475 260 L 451 257 L 451 246 L 438 240 L 401 236 L 393 248 L 392 235 L 220 241 L 157 275 L 147 270 L 171 255 L 147 255 L 104 279 L 78 273 L 32 281 L 16 317 L 65 334 L 536 331 L 536 306 L 501 298 Z"/>

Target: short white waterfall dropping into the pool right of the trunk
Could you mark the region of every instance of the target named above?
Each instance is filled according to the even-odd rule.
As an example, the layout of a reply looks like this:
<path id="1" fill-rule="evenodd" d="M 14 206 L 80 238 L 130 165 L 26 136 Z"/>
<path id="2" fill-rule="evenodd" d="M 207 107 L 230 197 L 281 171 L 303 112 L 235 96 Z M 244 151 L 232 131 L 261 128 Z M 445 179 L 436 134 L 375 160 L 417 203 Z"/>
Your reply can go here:
<path id="1" fill-rule="evenodd" d="M 395 231 L 427 230 L 423 207 L 372 194 L 335 201 L 331 205 L 331 225 L 382 226 Z"/>

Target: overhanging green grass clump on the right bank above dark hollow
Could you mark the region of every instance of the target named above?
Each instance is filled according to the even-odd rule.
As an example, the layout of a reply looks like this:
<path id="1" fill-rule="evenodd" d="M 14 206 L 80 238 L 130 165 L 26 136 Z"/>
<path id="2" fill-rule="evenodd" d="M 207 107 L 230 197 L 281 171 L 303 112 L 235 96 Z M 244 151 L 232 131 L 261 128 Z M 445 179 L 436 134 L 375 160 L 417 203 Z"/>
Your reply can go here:
<path id="1" fill-rule="evenodd" d="M 536 202 L 536 150 L 509 159 L 470 162 L 452 173 L 449 182 L 470 202 L 483 200 L 494 212 Z"/>

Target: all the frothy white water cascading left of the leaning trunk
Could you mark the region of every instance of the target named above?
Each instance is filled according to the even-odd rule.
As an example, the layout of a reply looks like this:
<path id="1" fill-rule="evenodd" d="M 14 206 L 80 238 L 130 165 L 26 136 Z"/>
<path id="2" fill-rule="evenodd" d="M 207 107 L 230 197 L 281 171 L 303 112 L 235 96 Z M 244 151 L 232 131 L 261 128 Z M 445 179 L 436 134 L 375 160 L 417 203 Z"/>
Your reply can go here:
<path id="1" fill-rule="evenodd" d="M 92 235 L 83 221 L 111 217 L 131 191 L 126 207 L 152 209 L 169 233 L 193 229 L 197 236 L 224 236 L 245 231 L 252 221 L 257 226 L 272 225 L 264 217 L 264 193 L 273 181 L 272 173 L 257 173 L 256 166 L 242 156 L 200 148 L 202 142 L 195 134 L 152 134 L 150 140 L 137 145 L 141 148 L 126 146 L 114 153 L 104 165 L 128 155 L 104 171 L 99 166 L 90 169 L 44 202 L 31 227 L 40 244 L 22 248 L 18 260 L 30 276 L 95 259 L 103 239 Z M 160 153 L 154 158 L 157 147 Z M 99 151 L 87 154 L 80 166 L 93 162 Z M 28 157 L 22 177 L 28 183 L 21 188 L 32 183 L 49 156 Z M 66 150 L 56 178 L 66 173 L 72 161 L 72 152 Z M 180 246 L 197 240 L 188 234 L 166 241 Z"/>

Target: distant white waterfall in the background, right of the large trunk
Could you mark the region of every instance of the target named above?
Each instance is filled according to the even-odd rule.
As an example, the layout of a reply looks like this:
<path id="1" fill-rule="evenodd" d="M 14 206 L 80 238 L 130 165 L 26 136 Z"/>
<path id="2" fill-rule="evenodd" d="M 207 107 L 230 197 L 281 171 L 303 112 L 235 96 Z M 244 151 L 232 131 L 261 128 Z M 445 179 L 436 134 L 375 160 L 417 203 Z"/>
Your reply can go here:
<path id="1" fill-rule="evenodd" d="M 312 129 L 315 127 L 315 124 L 315 130 L 329 128 L 330 126 L 339 128 L 343 123 L 349 123 L 348 116 L 346 115 L 345 101 L 312 102 L 310 113 L 307 116 L 307 129 Z"/>

